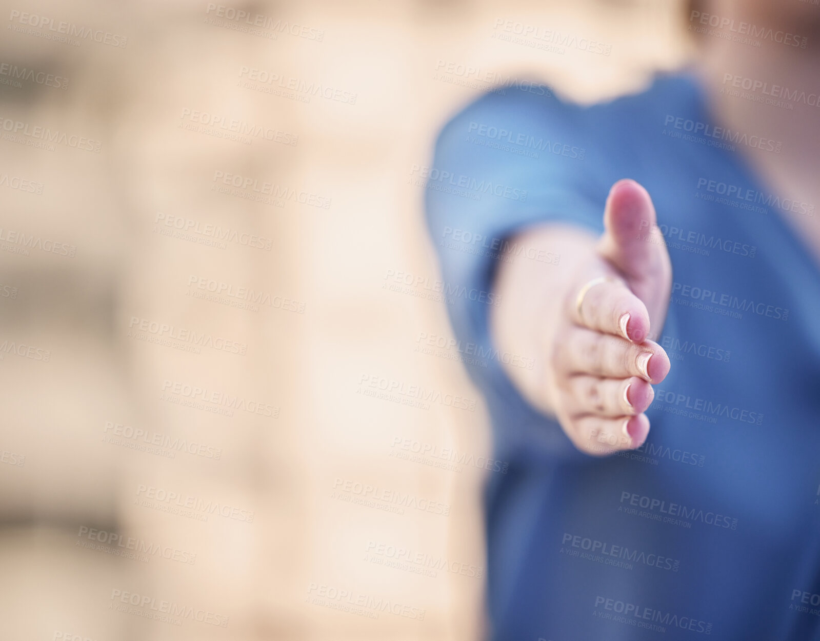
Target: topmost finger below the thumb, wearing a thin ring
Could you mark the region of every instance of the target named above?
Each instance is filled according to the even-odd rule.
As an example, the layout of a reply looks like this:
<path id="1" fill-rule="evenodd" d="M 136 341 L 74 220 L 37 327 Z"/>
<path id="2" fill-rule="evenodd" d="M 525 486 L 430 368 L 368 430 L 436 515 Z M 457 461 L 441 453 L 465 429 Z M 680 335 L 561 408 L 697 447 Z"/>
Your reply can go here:
<path id="1" fill-rule="evenodd" d="M 578 289 L 572 316 L 576 325 L 614 334 L 633 343 L 643 343 L 649 335 L 646 306 L 620 279 L 601 277 Z"/>

